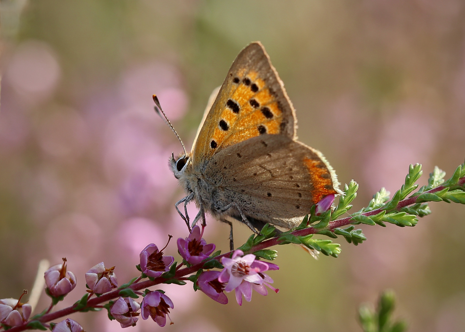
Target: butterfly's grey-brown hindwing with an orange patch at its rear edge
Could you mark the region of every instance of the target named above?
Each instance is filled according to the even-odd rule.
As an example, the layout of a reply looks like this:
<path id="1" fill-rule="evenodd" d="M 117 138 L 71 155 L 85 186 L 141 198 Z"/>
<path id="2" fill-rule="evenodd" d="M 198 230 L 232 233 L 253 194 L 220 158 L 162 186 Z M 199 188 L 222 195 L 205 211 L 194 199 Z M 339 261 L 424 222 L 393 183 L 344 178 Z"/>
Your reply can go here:
<path id="1" fill-rule="evenodd" d="M 219 204 L 237 202 L 247 216 L 288 228 L 287 220 L 305 216 L 324 196 L 338 193 L 321 153 L 285 135 L 227 147 L 212 157 L 205 176 L 221 188 Z"/>

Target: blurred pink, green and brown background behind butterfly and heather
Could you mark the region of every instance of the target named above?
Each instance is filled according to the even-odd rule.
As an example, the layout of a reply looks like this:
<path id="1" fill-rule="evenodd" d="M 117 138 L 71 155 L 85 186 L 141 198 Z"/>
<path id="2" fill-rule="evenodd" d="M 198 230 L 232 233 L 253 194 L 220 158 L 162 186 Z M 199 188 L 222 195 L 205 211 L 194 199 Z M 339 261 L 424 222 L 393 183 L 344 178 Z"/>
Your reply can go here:
<path id="1" fill-rule="evenodd" d="M 139 252 L 187 235 L 167 167 L 181 150 L 152 94 L 191 146 L 208 96 L 239 51 L 266 47 L 299 119 L 299 139 L 355 179 L 365 206 L 400 188 L 410 163 L 449 175 L 465 156 L 465 3 L 460 0 L 1 0 L 0 297 L 31 289 L 38 262 L 78 278 L 104 261 L 120 284 Z M 239 307 L 167 285 L 169 331 L 361 331 L 362 302 L 392 288 L 410 332 L 465 331 L 465 207 L 431 204 L 413 228 L 362 226 L 338 259 L 282 246 L 279 294 Z M 195 207 L 190 210 L 195 215 Z M 228 250 L 228 226 L 206 239 Z M 250 235 L 234 228 L 235 243 Z M 176 258 L 173 241 L 167 253 Z M 45 294 L 38 310 L 49 304 Z M 119 331 L 105 312 L 86 331 Z M 140 321 L 132 331 L 159 327 Z"/>

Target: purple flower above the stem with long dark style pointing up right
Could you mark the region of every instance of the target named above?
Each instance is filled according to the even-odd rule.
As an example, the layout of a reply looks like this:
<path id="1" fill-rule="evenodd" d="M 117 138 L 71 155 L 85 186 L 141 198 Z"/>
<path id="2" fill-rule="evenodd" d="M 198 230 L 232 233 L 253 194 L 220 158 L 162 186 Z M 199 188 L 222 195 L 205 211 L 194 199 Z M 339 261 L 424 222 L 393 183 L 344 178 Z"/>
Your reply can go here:
<path id="1" fill-rule="evenodd" d="M 162 250 L 159 251 L 158 247 L 151 243 L 140 252 L 140 269 L 149 277 L 158 278 L 163 272 L 169 271 L 174 262 L 174 257 L 163 256 Z"/>

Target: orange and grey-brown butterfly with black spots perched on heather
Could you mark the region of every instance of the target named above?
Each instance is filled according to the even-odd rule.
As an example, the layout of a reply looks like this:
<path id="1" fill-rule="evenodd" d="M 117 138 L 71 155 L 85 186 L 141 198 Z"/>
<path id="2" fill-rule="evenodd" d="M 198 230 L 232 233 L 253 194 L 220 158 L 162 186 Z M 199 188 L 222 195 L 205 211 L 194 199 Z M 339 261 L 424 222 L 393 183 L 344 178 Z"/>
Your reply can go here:
<path id="1" fill-rule="evenodd" d="M 233 250 L 232 221 L 256 233 L 266 223 L 281 232 L 297 226 L 326 195 L 342 193 L 323 154 L 297 140 L 295 110 L 260 42 L 239 53 L 212 102 L 191 152 L 183 145 L 168 162 L 186 192 L 175 207 L 189 229 L 186 205 L 195 201 L 193 225 L 199 219 L 205 225 L 205 213 L 229 224 Z"/>

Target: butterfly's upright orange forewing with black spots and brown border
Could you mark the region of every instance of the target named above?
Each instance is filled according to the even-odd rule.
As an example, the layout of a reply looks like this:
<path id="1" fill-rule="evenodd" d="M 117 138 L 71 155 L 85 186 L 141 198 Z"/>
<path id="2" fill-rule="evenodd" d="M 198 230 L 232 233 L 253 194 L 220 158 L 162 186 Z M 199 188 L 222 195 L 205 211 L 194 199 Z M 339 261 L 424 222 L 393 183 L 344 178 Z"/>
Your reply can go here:
<path id="1" fill-rule="evenodd" d="M 295 112 L 259 42 L 234 60 L 193 146 L 193 163 L 263 134 L 295 137 Z"/>

